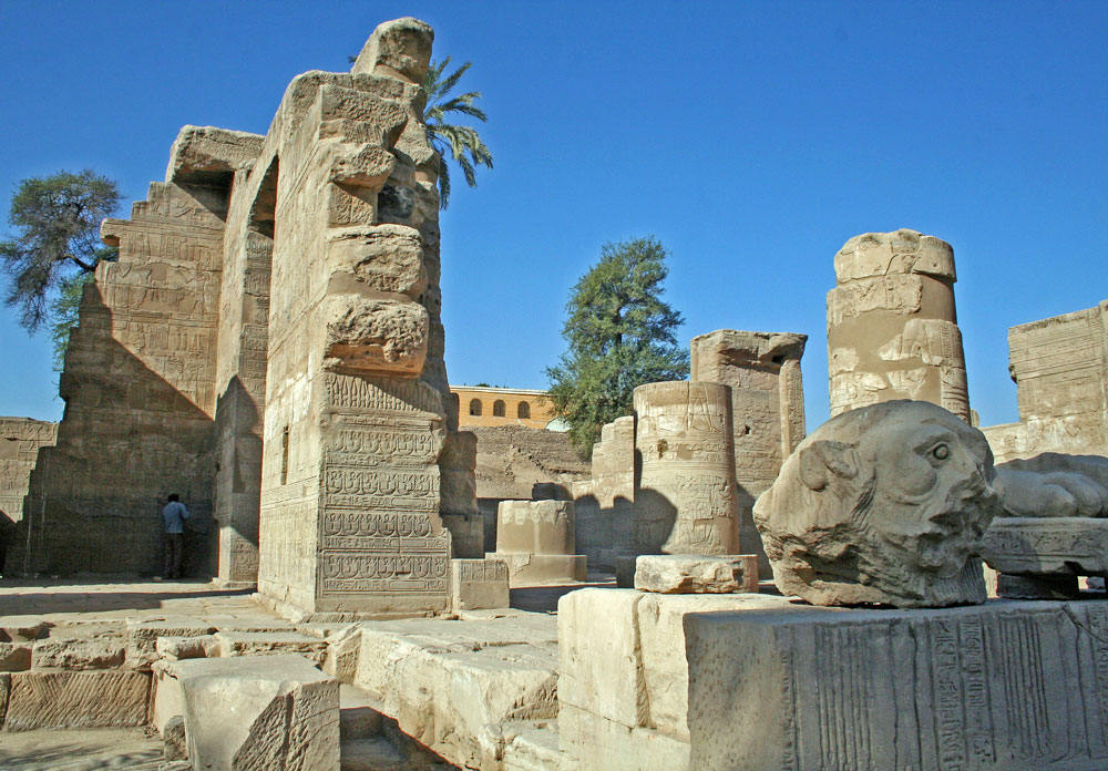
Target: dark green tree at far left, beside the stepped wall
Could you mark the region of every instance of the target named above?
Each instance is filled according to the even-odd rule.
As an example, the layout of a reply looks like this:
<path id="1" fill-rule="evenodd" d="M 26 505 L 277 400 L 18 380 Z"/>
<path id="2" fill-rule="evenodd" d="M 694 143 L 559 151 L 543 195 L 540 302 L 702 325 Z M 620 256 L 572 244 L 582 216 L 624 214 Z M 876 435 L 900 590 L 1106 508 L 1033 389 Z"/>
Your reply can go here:
<path id="1" fill-rule="evenodd" d="M 69 328 L 76 322 L 84 282 L 102 260 L 117 257 L 115 248 L 100 241 L 100 223 L 119 203 L 119 186 L 88 169 L 23 179 L 12 195 L 8 220 L 16 235 L 0 241 L 9 277 L 4 301 L 19 310 L 29 332 L 55 322 L 55 361 L 64 354 Z"/>

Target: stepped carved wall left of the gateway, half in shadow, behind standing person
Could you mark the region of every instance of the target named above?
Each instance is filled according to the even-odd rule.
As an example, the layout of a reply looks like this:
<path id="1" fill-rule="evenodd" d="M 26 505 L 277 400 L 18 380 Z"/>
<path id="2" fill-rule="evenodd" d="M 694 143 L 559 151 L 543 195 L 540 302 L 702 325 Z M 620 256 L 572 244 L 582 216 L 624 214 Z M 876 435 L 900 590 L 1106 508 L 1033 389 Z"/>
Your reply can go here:
<path id="1" fill-rule="evenodd" d="M 161 507 L 178 493 L 194 517 L 186 572 L 209 574 L 213 419 L 226 191 L 153 183 L 131 219 L 106 219 L 120 248 L 85 288 L 70 335 L 58 444 L 31 475 L 24 566 L 157 573 Z"/>

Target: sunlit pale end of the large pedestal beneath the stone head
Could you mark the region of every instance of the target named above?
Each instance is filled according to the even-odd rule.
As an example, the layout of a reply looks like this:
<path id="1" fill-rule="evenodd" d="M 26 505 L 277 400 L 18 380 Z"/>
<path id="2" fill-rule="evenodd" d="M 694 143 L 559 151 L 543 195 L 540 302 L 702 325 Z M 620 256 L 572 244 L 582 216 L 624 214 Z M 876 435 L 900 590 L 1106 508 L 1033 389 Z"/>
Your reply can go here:
<path id="1" fill-rule="evenodd" d="M 689 768 L 685 619 L 779 607 L 789 600 L 753 594 L 581 589 L 562 597 L 558 733 L 576 763 L 568 768 Z"/>

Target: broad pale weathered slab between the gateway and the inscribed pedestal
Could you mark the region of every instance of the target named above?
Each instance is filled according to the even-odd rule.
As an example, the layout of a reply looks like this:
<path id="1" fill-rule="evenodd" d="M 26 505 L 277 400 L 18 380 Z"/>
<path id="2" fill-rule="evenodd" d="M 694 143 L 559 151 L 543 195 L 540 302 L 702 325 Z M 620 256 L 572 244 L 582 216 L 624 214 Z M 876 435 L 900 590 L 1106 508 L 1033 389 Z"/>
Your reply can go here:
<path id="1" fill-rule="evenodd" d="M 400 731 L 455 765 L 481 768 L 504 723 L 557 713 L 551 616 L 375 621 L 361 635 L 355 685 L 380 699 Z"/>

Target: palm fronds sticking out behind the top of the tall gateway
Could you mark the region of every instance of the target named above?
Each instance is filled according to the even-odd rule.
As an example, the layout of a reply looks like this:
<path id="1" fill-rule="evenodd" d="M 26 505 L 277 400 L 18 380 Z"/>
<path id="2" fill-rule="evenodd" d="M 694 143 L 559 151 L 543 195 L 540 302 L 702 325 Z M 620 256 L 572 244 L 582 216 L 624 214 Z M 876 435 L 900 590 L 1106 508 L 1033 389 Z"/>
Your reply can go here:
<path id="1" fill-rule="evenodd" d="M 423 122 L 427 124 L 427 138 L 441 158 L 439 164 L 439 208 L 447 208 L 450 199 L 450 171 L 447 167 L 447 148 L 465 175 L 470 187 L 476 187 L 474 165 L 492 168 L 492 153 L 472 126 L 459 126 L 447 123 L 450 113 L 459 113 L 486 121 L 484 111 L 473 105 L 481 96 L 480 91 L 471 91 L 460 96 L 448 99 L 450 91 L 458 85 L 462 74 L 470 69 L 472 62 L 465 62 L 453 73 L 443 76 L 450 56 L 440 62 L 431 62 L 427 78 L 423 79 L 423 92 L 427 94 L 427 106 L 423 107 Z"/>

